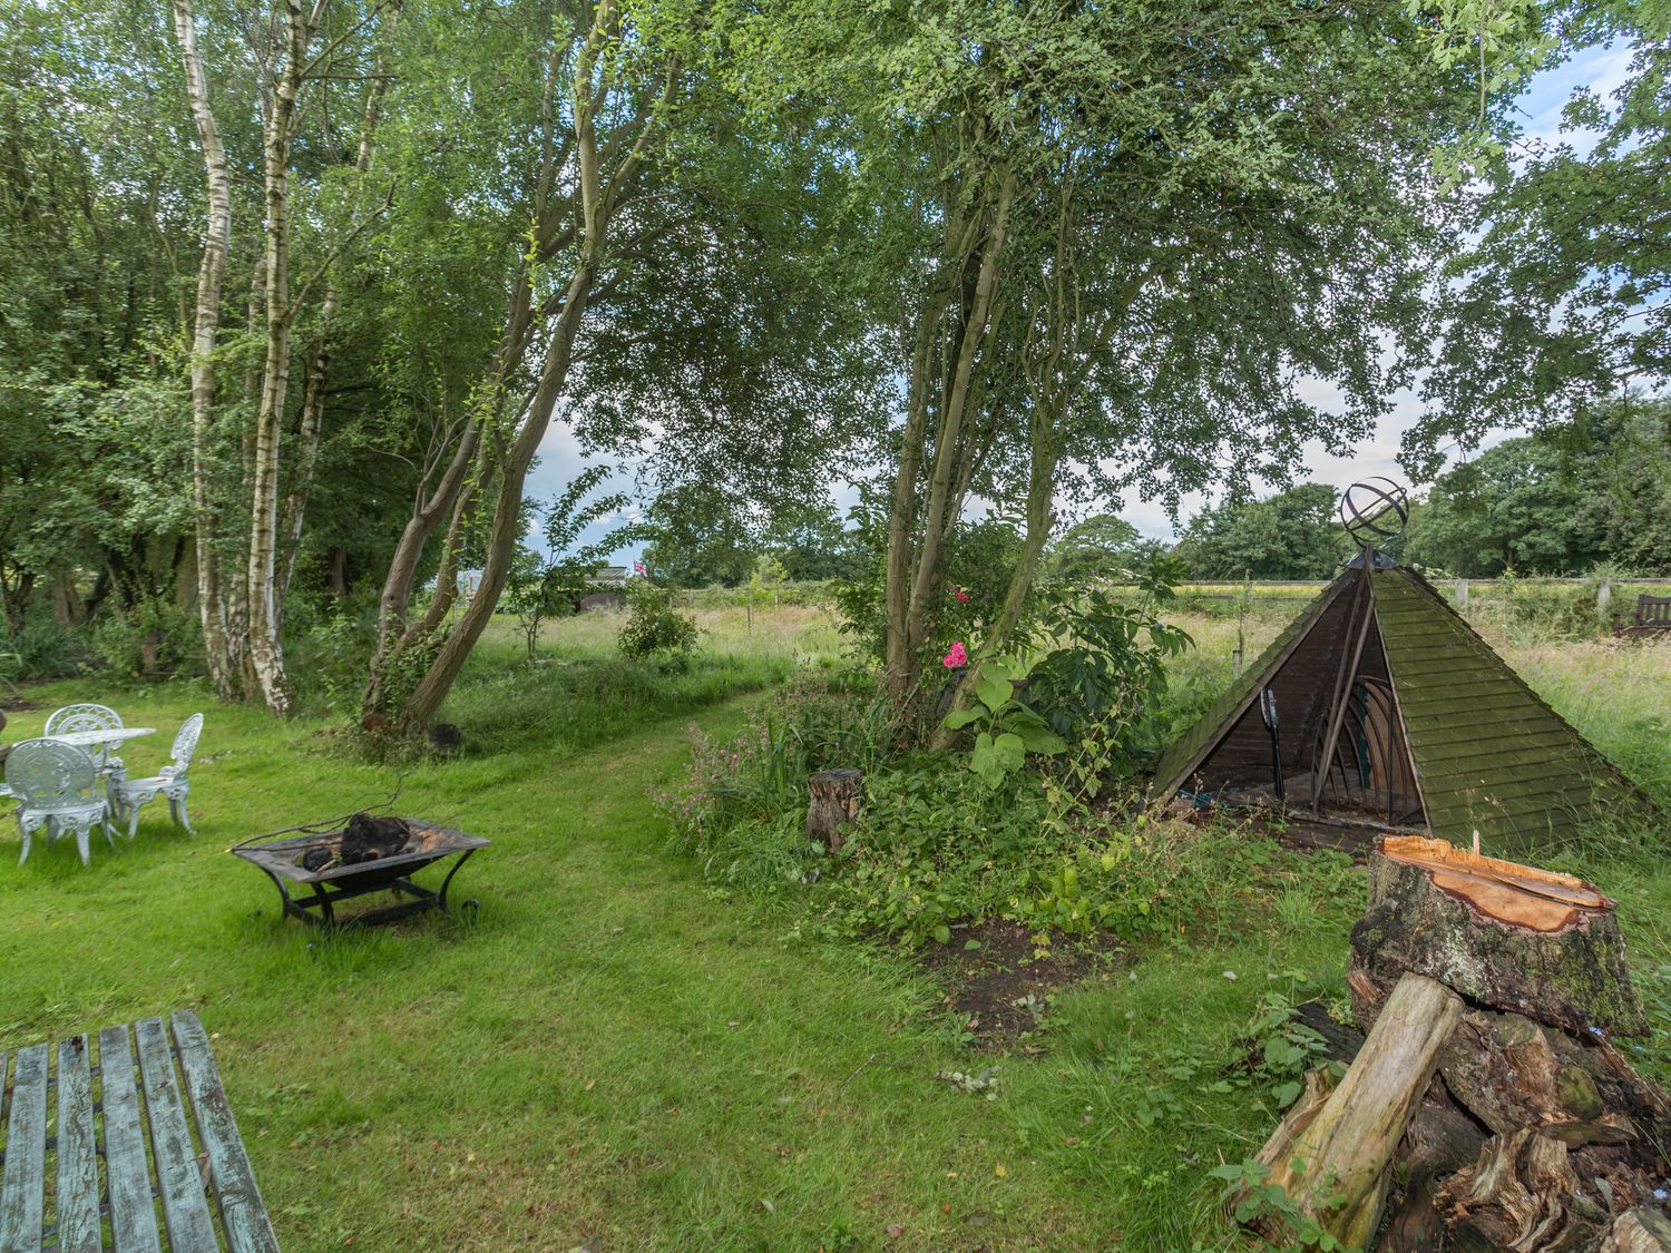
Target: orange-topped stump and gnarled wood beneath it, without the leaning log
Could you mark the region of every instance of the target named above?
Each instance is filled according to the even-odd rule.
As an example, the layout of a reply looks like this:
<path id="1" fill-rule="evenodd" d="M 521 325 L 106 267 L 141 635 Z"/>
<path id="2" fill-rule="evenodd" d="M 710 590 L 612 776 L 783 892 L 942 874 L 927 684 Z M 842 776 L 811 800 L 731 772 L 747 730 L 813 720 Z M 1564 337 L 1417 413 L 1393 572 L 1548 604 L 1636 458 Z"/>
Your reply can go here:
<path id="1" fill-rule="evenodd" d="M 1410 971 L 1469 1002 L 1400 1146 L 1384 1250 L 1432 1248 L 1440 1231 L 1445 1248 L 1596 1250 L 1616 1215 L 1653 1198 L 1671 1106 L 1608 1042 L 1646 1026 L 1611 900 L 1569 875 L 1387 837 L 1352 947 L 1362 1026 Z M 1470 1159 L 1457 1159 L 1467 1136 L 1449 1109 L 1489 1136 Z M 1450 1148 L 1424 1161 L 1435 1118 Z"/>

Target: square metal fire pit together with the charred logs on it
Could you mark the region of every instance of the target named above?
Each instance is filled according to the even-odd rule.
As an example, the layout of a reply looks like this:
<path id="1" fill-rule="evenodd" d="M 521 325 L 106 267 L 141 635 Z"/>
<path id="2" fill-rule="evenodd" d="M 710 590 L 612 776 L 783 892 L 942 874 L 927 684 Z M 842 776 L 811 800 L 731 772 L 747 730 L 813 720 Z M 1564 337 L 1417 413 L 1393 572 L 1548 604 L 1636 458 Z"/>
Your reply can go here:
<path id="1" fill-rule="evenodd" d="M 446 890 L 453 875 L 488 840 L 466 835 L 461 830 L 438 827 L 423 819 L 376 817 L 354 814 L 346 824 L 331 829 L 292 827 L 302 832 L 291 839 L 277 839 L 291 832 L 256 835 L 234 845 L 229 852 L 251 865 L 266 870 L 279 889 L 282 909 L 291 917 L 316 926 L 336 926 L 336 906 L 368 892 L 393 892 L 408 897 L 393 906 L 356 914 L 343 926 L 373 926 L 421 914 L 426 909 L 448 911 Z M 414 884 L 411 875 L 433 862 L 456 857 L 439 890 Z M 291 885 L 311 889 L 311 895 L 291 895 Z M 476 902 L 466 900 L 466 911 Z"/>

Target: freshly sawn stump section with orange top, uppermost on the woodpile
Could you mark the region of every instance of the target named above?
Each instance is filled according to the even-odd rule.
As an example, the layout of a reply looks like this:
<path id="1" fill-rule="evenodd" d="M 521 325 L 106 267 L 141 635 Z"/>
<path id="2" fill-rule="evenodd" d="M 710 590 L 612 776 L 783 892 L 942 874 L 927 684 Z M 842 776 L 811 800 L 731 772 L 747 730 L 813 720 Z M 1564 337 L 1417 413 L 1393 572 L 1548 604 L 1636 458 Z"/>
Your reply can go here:
<path id="1" fill-rule="evenodd" d="M 1405 971 L 1425 974 L 1469 1001 L 1567 1031 L 1648 1031 L 1608 897 L 1445 840 L 1380 840 L 1352 966 L 1379 987 Z"/>

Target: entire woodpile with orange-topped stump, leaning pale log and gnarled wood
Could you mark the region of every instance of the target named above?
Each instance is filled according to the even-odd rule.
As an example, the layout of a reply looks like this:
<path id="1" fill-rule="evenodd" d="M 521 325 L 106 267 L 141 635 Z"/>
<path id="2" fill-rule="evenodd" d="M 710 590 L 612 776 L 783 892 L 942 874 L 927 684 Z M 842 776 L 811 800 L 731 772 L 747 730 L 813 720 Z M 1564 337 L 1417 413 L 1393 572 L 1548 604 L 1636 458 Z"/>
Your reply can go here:
<path id="1" fill-rule="evenodd" d="M 1380 1253 L 1671 1253 L 1671 1098 L 1609 1039 L 1646 1027 L 1611 900 L 1385 837 L 1347 981 L 1364 1048 L 1260 1154 L 1318 1226 Z"/>

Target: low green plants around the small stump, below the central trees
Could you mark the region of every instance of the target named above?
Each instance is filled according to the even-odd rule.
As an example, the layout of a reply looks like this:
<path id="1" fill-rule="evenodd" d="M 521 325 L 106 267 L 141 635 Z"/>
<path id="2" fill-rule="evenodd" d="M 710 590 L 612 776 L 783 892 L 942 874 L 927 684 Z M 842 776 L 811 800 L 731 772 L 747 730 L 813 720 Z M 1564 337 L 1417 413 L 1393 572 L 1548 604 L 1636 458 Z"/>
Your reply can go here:
<path id="1" fill-rule="evenodd" d="M 886 702 L 871 700 L 802 690 L 735 740 L 693 732 L 685 775 L 657 795 L 670 849 L 697 857 L 717 884 L 807 890 L 837 932 L 907 947 L 991 917 L 1023 922 L 1041 946 L 1053 932 L 1180 939 L 1235 931 L 1263 907 L 1275 857 L 1267 840 L 1158 824 L 1106 795 L 1063 810 L 1054 775 L 1036 769 L 989 782 L 946 755 L 889 760 Z M 807 775 L 832 765 L 866 774 L 836 855 L 804 832 Z M 1345 857 L 1312 865 L 1327 899 L 1350 902 Z"/>

